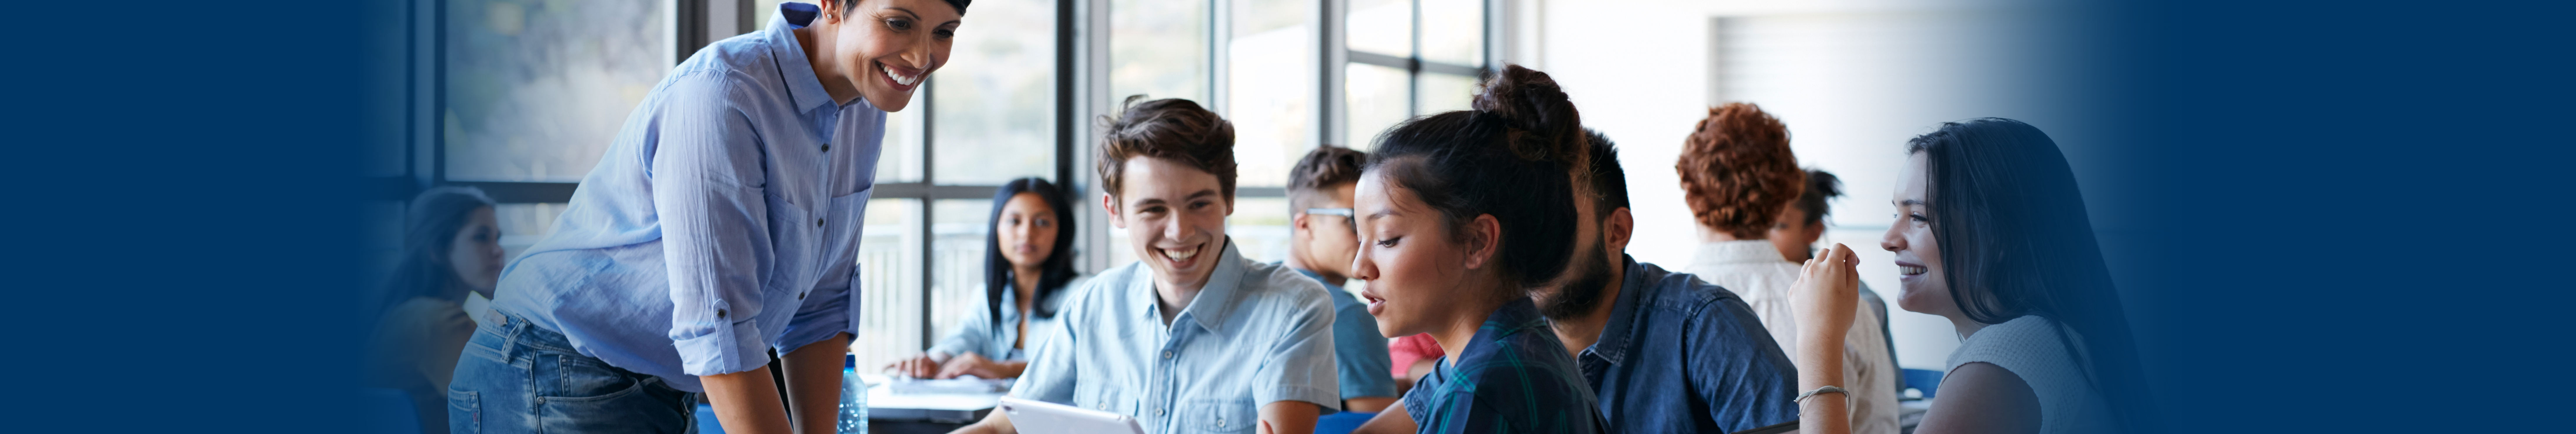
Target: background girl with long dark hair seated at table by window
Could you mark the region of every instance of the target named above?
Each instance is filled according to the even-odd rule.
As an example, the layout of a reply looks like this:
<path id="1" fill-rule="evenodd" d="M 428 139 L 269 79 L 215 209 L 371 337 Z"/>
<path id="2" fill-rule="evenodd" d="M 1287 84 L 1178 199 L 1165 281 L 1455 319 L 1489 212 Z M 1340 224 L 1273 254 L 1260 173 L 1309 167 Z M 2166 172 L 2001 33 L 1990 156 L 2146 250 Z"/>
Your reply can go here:
<path id="1" fill-rule="evenodd" d="M 1056 329 L 1056 306 L 1074 285 L 1074 208 L 1054 182 L 1010 180 L 992 195 L 984 236 L 984 306 L 930 352 L 886 365 L 912 378 L 1020 378 L 1028 354 Z"/>

